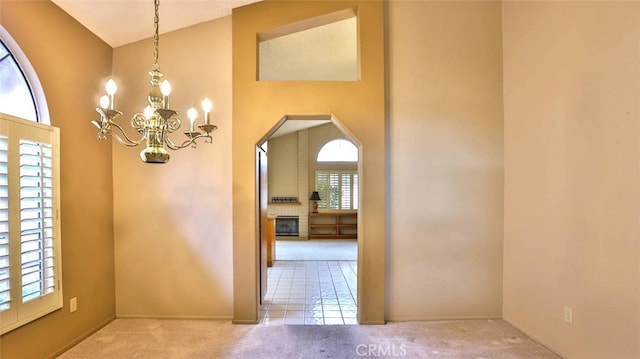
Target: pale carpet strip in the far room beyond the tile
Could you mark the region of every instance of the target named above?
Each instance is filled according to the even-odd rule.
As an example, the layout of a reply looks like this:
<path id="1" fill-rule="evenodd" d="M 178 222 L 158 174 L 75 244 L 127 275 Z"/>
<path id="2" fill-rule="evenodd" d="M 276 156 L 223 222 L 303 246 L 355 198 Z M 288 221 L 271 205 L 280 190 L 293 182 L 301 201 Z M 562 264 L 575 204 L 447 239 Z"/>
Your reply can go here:
<path id="1" fill-rule="evenodd" d="M 355 261 L 358 242 L 353 239 L 276 240 L 276 260 Z"/>

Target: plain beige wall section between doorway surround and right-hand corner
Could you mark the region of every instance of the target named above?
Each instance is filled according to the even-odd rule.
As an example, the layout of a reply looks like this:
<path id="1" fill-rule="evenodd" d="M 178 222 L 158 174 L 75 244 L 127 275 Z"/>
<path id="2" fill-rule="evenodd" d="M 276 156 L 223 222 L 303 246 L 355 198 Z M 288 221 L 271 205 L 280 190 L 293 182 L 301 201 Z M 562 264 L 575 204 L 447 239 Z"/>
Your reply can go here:
<path id="1" fill-rule="evenodd" d="M 389 320 L 501 316 L 500 13 L 389 3 Z"/>

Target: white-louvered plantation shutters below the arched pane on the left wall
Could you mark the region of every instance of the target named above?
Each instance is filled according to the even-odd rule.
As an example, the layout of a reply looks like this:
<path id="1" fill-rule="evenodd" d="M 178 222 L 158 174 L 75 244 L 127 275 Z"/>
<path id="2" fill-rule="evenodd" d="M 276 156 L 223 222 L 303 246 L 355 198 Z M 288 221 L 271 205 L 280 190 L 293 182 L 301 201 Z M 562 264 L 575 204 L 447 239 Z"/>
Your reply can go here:
<path id="1" fill-rule="evenodd" d="M 0 334 L 62 307 L 58 142 L 0 114 Z"/>

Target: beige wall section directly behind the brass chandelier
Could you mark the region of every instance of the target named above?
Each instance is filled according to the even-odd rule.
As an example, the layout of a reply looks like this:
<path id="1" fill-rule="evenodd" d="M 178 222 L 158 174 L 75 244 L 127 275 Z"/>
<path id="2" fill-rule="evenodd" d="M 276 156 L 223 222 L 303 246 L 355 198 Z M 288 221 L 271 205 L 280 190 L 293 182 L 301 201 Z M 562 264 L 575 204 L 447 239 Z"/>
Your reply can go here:
<path id="1" fill-rule="evenodd" d="M 152 40 L 114 50 L 116 105 L 128 118 L 149 91 Z M 113 146 L 117 315 L 229 318 L 231 256 L 231 18 L 160 36 L 159 64 L 171 107 L 214 103 L 213 143 L 170 151 L 169 163 L 141 162 L 140 147 Z M 200 112 L 202 121 L 202 112 Z M 133 131 L 129 131 L 133 134 Z"/>

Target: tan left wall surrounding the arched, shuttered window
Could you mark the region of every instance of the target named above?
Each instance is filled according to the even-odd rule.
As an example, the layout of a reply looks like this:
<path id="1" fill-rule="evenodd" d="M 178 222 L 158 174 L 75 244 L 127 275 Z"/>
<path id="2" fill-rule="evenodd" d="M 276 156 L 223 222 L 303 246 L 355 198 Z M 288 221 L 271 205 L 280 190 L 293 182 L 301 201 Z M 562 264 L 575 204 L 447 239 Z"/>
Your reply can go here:
<path id="1" fill-rule="evenodd" d="M 111 48 L 49 1 L 0 2 L 0 24 L 28 57 L 61 138 L 64 307 L 0 337 L 2 358 L 44 358 L 115 314 L 111 145 L 90 124 Z M 69 313 L 69 299 L 78 310 Z"/>

